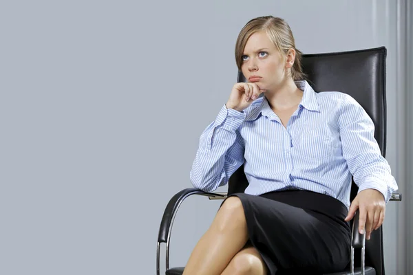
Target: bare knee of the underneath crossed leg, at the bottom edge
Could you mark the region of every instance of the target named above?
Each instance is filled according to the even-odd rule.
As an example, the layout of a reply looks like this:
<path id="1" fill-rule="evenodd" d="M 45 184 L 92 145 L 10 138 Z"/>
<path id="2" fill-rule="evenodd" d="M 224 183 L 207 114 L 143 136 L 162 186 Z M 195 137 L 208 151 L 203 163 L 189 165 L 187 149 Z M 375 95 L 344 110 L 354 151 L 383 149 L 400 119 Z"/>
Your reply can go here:
<path id="1" fill-rule="evenodd" d="M 231 260 L 221 275 L 266 275 L 268 269 L 260 253 L 251 245 Z"/>

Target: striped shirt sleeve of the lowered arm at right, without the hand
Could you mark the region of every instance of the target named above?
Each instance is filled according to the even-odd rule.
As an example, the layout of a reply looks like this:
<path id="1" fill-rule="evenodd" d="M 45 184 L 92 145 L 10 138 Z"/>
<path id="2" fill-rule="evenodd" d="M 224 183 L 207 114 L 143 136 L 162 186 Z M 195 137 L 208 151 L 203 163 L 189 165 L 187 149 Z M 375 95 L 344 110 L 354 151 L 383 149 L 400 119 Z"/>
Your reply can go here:
<path id="1" fill-rule="evenodd" d="M 374 123 L 368 113 L 354 98 L 345 95 L 341 98 L 339 124 L 343 157 L 359 192 L 379 190 L 387 203 L 398 187 L 374 139 Z"/>

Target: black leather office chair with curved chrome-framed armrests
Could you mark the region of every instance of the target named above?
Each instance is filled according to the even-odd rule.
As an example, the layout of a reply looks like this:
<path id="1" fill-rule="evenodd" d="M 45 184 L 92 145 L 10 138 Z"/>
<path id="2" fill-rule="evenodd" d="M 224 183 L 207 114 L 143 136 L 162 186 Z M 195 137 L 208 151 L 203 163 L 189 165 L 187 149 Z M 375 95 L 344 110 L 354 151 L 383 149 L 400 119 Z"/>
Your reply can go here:
<path id="1" fill-rule="evenodd" d="M 386 144 L 386 100 L 385 100 L 385 47 L 352 52 L 328 54 L 305 54 L 303 69 L 308 75 L 308 83 L 315 91 L 341 91 L 352 96 L 367 111 L 375 125 L 374 137 L 379 143 L 381 154 L 385 157 Z M 238 82 L 245 82 L 241 72 Z M 244 192 L 248 181 L 241 166 L 229 179 L 228 194 Z M 358 187 L 352 182 L 350 201 L 357 195 Z M 160 243 L 166 243 L 166 274 L 181 275 L 184 267 L 169 269 L 169 240 L 173 219 L 180 204 L 191 195 L 204 195 L 209 199 L 224 199 L 225 192 L 203 192 L 196 188 L 187 188 L 172 197 L 160 223 L 156 272 L 160 274 Z M 401 201 L 401 194 L 394 193 L 392 201 Z M 384 275 L 383 231 L 382 227 L 374 230 L 371 239 L 366 241 L 365 234 L 359 234 L 359 212 L 351 221 L 352 259 L 346 270 L 335 275 L 368 274 Z M 354 221 L 354 222 L 353 222 Z M 354 250 L 354 248 L 360 248 Z"/>

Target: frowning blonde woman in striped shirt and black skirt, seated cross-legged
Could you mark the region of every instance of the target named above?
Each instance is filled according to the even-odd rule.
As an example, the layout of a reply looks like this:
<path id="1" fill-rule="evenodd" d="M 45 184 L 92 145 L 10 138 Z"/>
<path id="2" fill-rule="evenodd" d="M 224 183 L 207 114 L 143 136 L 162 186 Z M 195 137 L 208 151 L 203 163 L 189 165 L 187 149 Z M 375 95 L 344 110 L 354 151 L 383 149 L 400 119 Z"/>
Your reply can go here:
<path id="1" fill-rule="evenodd" d="M 211 192 L 244 164 L 249 185 L 222 203 L 184 275 L 342 271 L 348 221 L 359 209 L 370 239 L 397 188 L 372 120 L 346 94 L 313 91 L 283 19 L 249 21 L 235 58 L 248 83 L 234 85 L 202 133 L 191 181 Z M 352 176 L 359 194 L 350 206 Z"/>

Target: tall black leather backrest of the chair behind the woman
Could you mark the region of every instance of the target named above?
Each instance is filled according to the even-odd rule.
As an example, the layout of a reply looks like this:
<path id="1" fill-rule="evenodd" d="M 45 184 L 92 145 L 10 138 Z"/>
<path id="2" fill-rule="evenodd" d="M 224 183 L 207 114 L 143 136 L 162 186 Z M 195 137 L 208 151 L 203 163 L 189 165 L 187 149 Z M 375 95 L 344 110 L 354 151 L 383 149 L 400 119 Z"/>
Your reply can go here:
<path id="1" fill-rule="evenodd" d="M 385 157 L 386 100 L 385 100 L 385 47 L 374 49 L 304 54 L 303 70 L 307 81 L 317 92 L 341 91 L 352 96 L 366 110 L 375 126 L 374 137 Z M 238 82 L 245 82 L 238 72 Z M 229 194 L 244 192 L 248 186 L 242 165 L 229 179 Z M 350 201 L 357 195 L 357 186 L 352 182 Z M 359 265 L 359 255 L 354 257 Z M 382 228 L 372 232 L 366 241 L 366 265 L 374 267 L 378 275 L 384 275 Z"/>

